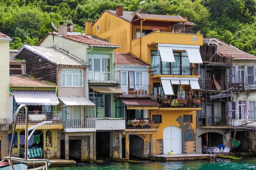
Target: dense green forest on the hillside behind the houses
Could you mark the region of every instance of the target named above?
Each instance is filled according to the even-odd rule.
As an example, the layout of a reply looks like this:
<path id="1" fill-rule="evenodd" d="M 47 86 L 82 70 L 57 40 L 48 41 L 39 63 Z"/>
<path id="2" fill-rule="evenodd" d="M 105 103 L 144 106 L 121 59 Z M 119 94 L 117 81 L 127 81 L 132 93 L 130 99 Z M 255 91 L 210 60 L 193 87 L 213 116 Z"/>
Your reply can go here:
<path id="1" fill-rule="evenodd" d="M 10 48 L 37 45 L 51 21 L 65 21 L 84 33 L 86 20 L 122 5 L 124 11 L 143 8 L 148 14 L 180 15 L 195 23 L 194 32 L 215 37 L 256 55 L 256 0 L 0 0 L 0 32 L 13 38 Z"/>

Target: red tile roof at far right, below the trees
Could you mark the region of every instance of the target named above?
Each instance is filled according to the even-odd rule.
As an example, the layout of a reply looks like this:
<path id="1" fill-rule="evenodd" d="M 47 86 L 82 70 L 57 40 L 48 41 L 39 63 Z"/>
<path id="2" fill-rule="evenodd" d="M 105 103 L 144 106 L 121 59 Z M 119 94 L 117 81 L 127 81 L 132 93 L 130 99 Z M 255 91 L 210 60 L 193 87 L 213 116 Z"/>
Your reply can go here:
<path id="1" fill-rule="evenodd" d="M 249 54 L 247 52 L 241 51 L 238 48 L 229 45 L 219 39 L 215 39 L 216 41 L 221 42 L 222 45 L 217 45 L 217 54 L 222 56 L 229 56 L 231 55 L 232 58 L 236 59 L 256 59 L 256 56 Z"/>

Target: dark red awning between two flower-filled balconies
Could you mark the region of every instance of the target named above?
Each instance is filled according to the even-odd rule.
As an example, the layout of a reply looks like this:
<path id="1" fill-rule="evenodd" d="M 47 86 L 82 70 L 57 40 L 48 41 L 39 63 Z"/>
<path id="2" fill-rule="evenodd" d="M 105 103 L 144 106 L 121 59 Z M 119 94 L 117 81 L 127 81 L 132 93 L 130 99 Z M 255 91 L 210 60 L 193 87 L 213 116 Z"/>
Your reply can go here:
<path id="1" fill-rule="evenodd" d="M 157 102 L 155 102 L 152 99 L 139 99 L 139 98 L 126 98 L 123 99 L 122 101 L 125 105 L 127 106 L 134 106 L 134 107 L 139 107 L 139 106 L 160 106 Z"/>

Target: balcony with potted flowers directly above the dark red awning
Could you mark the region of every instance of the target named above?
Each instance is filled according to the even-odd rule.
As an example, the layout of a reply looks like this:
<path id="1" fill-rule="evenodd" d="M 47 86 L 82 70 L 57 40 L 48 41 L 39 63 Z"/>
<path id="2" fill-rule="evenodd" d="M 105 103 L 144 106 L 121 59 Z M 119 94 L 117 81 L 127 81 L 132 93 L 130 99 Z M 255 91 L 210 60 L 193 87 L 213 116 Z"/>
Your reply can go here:
<path id="1" fill-rule="evenodd" d="M 153 94 L 153 86 L 152 85 L 134 85 L 134 84 L 127 84 L 127 85 L 118 85 L 118 87 L 124 91 L 125 95 L 124 97 L 137 97 L 137 98 L 144 98 L 144 97 L 153 97 L 149 96 L 150 94 Z M 139 91 L 141 89 L 141 91 Z M 138 91 L 137 94 L 135 94 L 135 91 Z M 144 91 L 143 91 L 144 90 Z M 132 93 L 131 91 L 134 91 Z"/>

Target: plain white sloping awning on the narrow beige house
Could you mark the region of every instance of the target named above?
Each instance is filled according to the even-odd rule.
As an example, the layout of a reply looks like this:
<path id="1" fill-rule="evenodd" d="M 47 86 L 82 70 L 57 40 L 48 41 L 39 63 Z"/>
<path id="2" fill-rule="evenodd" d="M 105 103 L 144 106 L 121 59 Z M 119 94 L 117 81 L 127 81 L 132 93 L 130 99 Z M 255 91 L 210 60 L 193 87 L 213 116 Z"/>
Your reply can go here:
<path id="1" fill-rule="evenodd" d="M 93 102 L 85 97 L 58 97 L 65 105 L 72 106 L 95 106 Z"/>

